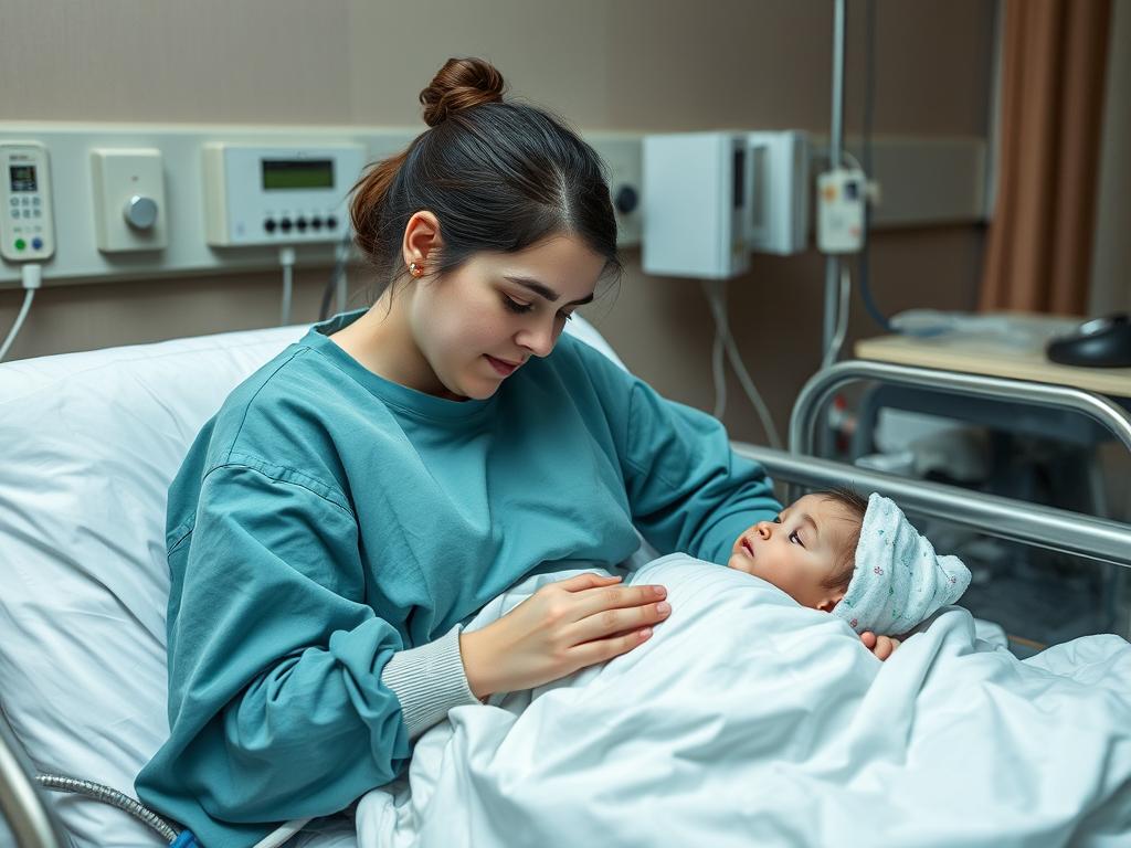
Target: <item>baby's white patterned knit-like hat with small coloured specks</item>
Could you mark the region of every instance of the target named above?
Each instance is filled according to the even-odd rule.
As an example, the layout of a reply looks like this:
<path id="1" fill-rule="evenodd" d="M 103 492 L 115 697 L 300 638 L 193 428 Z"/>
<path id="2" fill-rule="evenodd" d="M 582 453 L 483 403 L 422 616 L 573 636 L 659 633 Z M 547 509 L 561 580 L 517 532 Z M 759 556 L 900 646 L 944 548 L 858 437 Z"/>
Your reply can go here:
<path id="1" fill-rule="evenodd" d="M 900 509 L 875 492 L 856 545 L 852 582 L 832 614 L 857 633 L 906 633 L 939 607 L 953 604 L 970 585 L 957 556 L 939 556 Z"/>

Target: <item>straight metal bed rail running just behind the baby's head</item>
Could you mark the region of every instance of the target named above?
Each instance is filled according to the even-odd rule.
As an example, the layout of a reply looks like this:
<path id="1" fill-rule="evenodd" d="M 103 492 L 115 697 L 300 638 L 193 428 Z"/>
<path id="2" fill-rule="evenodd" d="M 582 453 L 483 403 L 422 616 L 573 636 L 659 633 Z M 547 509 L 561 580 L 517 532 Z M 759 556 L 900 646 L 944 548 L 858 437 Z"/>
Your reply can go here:
<path id="1" fill-rule="evenodd" d="M 879 492 L 908 512 L 940 518 L 995 538 L 1131 568 L 1131 525 L 744 442 L 732 445 L 740 456 L 759 462 L 770 477 L 800 486 L 847 485 Z"/>

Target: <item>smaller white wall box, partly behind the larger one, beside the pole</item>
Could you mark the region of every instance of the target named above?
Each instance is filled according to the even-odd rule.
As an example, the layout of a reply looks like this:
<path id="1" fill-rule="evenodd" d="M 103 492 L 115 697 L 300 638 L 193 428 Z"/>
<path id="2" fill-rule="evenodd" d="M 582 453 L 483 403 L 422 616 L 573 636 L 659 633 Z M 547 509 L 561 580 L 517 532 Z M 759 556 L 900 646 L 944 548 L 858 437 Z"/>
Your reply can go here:
<path id="1" fill-rule="evenodd" d="M 751 132 L 746 242 L 756 253 L 787 256 L 809 246 L 809 135 Z"/>

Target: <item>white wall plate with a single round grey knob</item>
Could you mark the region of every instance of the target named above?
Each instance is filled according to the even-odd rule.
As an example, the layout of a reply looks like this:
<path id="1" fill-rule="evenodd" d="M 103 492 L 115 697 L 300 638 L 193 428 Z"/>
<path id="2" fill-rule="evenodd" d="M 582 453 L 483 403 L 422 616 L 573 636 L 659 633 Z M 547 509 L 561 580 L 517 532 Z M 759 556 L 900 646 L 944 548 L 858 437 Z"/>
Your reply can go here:
<path id="1" fill-rule="evenodd" d="M 96 148 L 90 152 L 90 178 L 98 250 L 122 253 L 167 246 L 161 150 Z"/>

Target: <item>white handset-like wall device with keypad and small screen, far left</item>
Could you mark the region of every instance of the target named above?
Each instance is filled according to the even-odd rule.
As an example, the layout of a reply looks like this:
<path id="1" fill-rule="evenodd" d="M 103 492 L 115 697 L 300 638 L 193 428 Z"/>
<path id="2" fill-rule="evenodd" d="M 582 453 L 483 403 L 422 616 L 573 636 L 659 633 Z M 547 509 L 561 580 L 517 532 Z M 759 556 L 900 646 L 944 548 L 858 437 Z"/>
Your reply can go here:
<path id="1" fill-rule="evenodd" d="M 48 149 L 32 141 L 0 142 L 0 256 L 42 262 L 55 252 Z"/>

